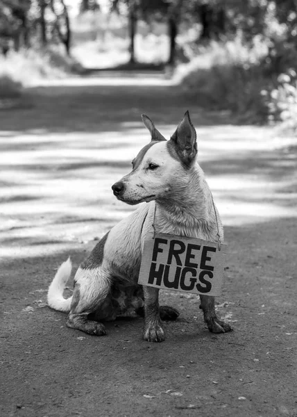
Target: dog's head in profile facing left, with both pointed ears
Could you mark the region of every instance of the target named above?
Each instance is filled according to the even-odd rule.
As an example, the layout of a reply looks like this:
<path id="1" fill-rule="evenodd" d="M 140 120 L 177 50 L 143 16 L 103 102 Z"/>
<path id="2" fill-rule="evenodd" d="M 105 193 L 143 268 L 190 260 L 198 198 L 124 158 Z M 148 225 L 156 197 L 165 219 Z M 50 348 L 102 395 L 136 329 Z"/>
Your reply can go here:
<path id="1" fill-rule="evenodd" d="M 170 140 L 149 117 L 142 115 L 142 120 L 151 133 L 151 142 L 133 160 L 133 170 L 112 186 L 117 199 L 127 204 L 172 198 L 187 188 L 196 163 L 196 131 L 188 111 Z"/>

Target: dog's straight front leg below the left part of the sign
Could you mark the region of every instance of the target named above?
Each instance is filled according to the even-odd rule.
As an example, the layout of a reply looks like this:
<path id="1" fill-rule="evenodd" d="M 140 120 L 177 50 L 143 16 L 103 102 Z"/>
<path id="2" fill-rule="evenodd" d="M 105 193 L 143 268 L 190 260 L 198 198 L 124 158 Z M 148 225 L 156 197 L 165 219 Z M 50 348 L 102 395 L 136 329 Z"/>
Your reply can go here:
<path id="1" fill-rule="evenodd" d="M 144 286 L 144 340 L 162 342 L 165 340 L 159 311 L 159 288 Z"/>

